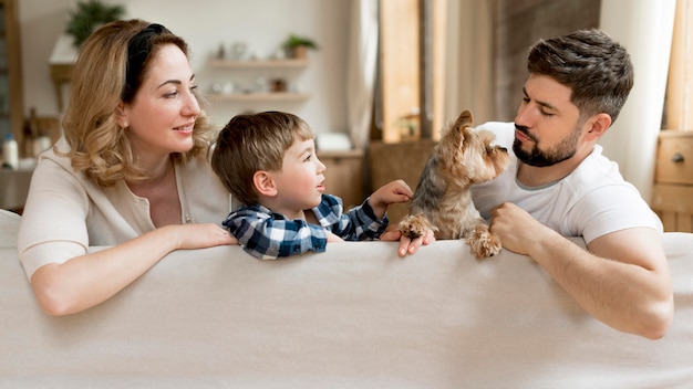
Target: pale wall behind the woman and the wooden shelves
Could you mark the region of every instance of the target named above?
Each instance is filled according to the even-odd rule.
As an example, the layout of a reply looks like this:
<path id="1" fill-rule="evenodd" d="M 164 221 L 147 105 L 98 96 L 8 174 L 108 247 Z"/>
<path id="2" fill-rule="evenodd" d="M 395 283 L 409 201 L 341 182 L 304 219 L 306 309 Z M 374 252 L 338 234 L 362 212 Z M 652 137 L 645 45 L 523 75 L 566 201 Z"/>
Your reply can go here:
<path id="1" fill-rule="evenodd" d="M 123 4 L 126 18 L 159 22 L 185 38 L 192 49 L 193 69 L 201 92 L 209 92 L 215 81 L 225 82 L 230 72 L 211 70 L 207 65 L 209 56 L 217 52 L 220 44 L 228 51 L 231 43 L 244 41 L 262 57 L 273 53 L 290 32 L 316 39 L 320 50 L 311 52 L 311 65 L 290 74 L 296 75 L 301 90 L 312 94 L 311 98 L 304 103 L 265 104 L 254 108 L 296 113 L 316 133 L 346 130 L 344 80 L 349 0 L 103 1 Z M 65 28 L 69 11 L 74 10 L 76 3 L 76 0 L 19 1 L 27 113 L 30 107 L 37 107 L 39 115 L 60 115 L 48 61 L 56 38 Z M 249 77 L 255 75 L 250 73 Z M 65 87 L 65 97 L 68 91 Z M 210 104 L 208 112 L 218 125 L 250 108 L 236 103 Z"/>

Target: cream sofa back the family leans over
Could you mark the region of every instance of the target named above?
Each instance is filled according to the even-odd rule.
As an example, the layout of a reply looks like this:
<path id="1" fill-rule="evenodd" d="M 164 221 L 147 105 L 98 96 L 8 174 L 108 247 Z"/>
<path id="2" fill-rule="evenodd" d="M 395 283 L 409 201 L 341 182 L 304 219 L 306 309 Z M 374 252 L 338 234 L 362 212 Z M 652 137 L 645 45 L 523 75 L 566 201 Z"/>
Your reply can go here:
<path id="1" fill-rule="evenodd" d="M 676 312 L 648 340 L 532 261 L 458 241 L 259 261 L 175 252 L 111 301 L 50 317 L 0 229 L 0 388 L 691 388 L 693 234 L 666 233 Z M 95 248 L 94 250 L 99 250 Z"/>

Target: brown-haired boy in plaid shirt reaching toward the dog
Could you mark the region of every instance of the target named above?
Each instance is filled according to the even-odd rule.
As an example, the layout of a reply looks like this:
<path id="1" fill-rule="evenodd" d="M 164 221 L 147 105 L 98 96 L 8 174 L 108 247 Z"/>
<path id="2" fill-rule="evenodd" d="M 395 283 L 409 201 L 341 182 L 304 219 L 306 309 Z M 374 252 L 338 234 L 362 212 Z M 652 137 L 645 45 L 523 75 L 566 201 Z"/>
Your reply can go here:
<path id="1" fill-rule="evenodd" d="M 404 181 L 392 181 L 343 213 L 342 200 L 324 193 L 313 138 L 304 120 L 281 112 L 238 115 L 219 133 L 211 167 L 244 204 L 223 224 L 251 255 L 277 259 L 376 239 L 387 227 L 387 206 L 413 196 Z"/>

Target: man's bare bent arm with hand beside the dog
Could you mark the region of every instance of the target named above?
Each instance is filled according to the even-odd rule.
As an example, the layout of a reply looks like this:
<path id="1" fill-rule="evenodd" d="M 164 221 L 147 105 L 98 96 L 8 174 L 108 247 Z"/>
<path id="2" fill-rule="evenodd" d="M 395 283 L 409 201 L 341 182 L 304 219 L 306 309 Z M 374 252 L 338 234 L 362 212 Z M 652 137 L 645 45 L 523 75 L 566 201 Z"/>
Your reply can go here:
<path id="1" fill-rule="evenodd" d="M 594 239 L 586 251 L 513 203 L 492 211 L 490 230 L 504 248 L 529 255 L 604 324 L 650 339 L 666 333 L 673 293 L 658 231 L 612 232 Z"/>

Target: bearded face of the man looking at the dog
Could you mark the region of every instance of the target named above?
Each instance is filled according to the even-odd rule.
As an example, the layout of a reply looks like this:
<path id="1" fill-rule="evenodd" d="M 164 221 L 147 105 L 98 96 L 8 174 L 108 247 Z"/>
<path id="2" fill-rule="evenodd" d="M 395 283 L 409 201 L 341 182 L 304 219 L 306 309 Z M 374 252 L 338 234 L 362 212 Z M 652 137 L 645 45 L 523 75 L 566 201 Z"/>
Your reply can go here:
<path id="1" fill-rule="evenodd" d="M 570 102 L 569 87 L 542 75 L 530 75 L 515 117 L 513 151 L 523 162 L 546 167 L 572 158 L 583 122 Z"/>

